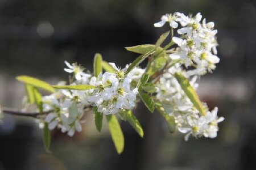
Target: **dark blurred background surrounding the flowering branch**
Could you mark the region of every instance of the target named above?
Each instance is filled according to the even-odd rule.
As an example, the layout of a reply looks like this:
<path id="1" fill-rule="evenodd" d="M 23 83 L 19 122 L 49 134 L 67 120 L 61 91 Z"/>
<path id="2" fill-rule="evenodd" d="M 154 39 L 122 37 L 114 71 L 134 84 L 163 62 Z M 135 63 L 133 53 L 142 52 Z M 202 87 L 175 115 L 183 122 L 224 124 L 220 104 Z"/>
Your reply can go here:
<path id="1" fill-rule="evenodd" d="M 225 117 L 216 139 L 168 133 L 157 113 L 139 105 L 141 139 L 122 122 L 125 150 L 117 155 L 108 127 L 100 134 L 86 113 L 81 133 L 52 133 L 52 155 L 44 152 L 34 120 L 5 116 L 0 125 L 0 169 L 256 169 L 256 1 L 88 0 L 0 1 L 0 104 L 21 108 L 24 87 L 16 75 L 56 83 L 67 80 L 64 60 L 92 70 L 93 56 L 119 66 L 137 56 L 125 46 L 155 43 L 168 27 L 160 16 L 201 12 L 218 29 L 218 63 L 200 80 L 199 95 Z"/>

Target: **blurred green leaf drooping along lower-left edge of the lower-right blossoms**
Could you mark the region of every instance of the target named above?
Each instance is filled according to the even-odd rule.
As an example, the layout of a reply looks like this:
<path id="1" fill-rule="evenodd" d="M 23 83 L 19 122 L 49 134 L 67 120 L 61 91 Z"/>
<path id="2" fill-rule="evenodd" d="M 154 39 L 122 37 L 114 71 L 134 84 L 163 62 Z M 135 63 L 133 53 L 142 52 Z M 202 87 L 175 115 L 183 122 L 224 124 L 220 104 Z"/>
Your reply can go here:
<path id="1" fill-rule="evenodd" d="M 176 122 L 175 118 L 173 116 L 170 116 L 169 112 L 172 112 L 173 109 L 171 109 L 171 105 L 167 104 L 167 101 L 164 102 L 165 104 L 161 103 L 159 100 L 155 102 L 155 108 L 158 110 L 158 112 L 164 117 L 164 119 L 167 122 L 168 129 L 170 133 L 174 133 L 176 130 Z M 163 106 L 165 105 L 165 107 Z M 172 111 L 171 111 L 172 110 Z"/>

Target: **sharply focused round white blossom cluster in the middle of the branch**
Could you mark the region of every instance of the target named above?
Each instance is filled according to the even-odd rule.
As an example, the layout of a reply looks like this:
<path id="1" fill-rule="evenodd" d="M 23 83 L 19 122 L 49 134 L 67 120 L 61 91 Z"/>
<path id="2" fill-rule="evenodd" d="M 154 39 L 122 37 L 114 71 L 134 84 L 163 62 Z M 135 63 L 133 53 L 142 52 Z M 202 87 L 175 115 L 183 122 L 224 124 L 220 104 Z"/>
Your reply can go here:
<path id="1" fill-rule="evenodd" d="M 118 69 L 114 63 L 110 63 L 116 70 L 115 73 L 105 72 L 91 80 L 94 88 L 92 95 L 88 96 L 88 101 L 94 103 L 98 112 L 104 114 L 115 114 L 121 109 L 133 109 L 135 107 L 138 89 L 131 89 L 130 76 L 125 76 L 125 70 Z"/>

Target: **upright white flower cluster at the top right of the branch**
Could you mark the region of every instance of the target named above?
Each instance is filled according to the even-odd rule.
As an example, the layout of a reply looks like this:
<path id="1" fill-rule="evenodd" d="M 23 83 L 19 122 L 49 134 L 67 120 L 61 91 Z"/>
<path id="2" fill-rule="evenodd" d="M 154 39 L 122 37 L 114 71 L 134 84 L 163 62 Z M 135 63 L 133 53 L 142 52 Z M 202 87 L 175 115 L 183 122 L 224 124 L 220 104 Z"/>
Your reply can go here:
<path id="1" fill-rule="evenodd" d="M 177 22 L 180 23 L 181 28 L 177 29 L 177 33 L 181 37 L 172 38 L 178 47 L 170 54 L 170 57 L 181 59 L 186 67 L 195 66 L 193 73 L 199 75 L 214 70 L 215 64 L 220 61 L 216 56 L 218 44 L 214 23 L 206 23 L 206 19 L 201 22 L 201 19 L 200 13 L 192 17 L 175 12 L 174 15 L 162 16 L 162 21 L 155 24 L 155 27 L 162 27 L 165 22 L 169 22 L 172 28 L 177 28 Z"/>

